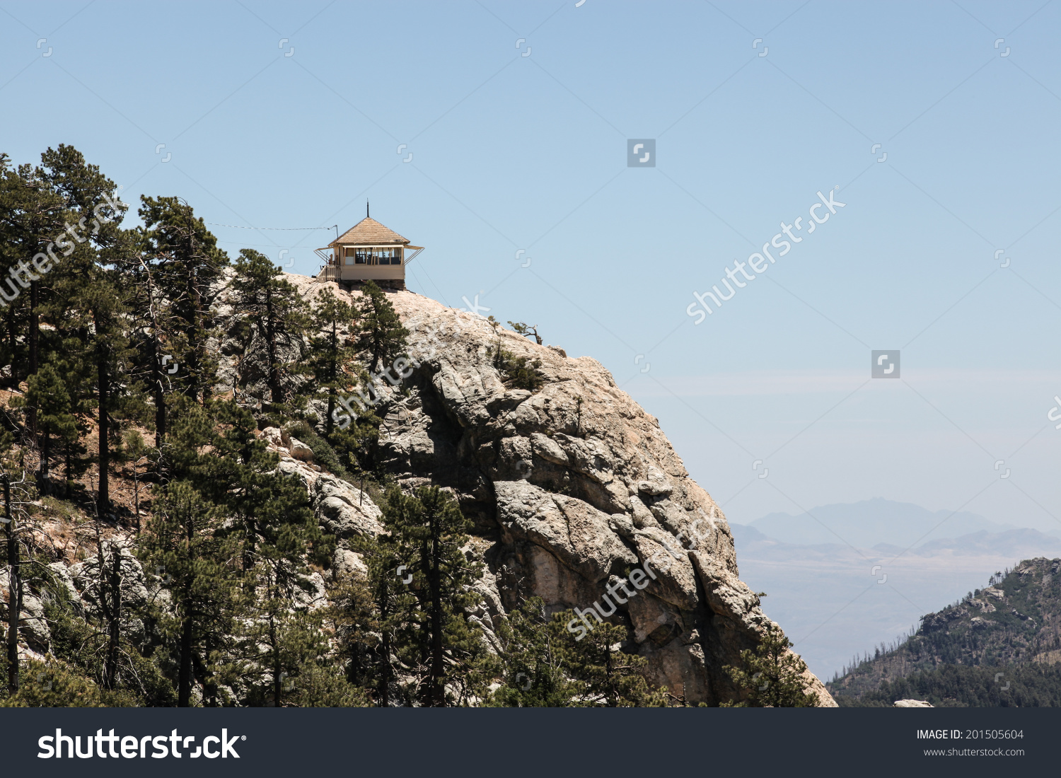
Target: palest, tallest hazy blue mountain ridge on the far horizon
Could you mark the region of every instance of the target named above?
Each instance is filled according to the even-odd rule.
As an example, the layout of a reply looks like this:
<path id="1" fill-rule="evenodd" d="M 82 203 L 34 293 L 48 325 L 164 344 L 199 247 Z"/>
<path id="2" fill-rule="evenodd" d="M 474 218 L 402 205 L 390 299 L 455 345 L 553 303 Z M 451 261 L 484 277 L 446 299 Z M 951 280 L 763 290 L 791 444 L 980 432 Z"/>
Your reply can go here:
<path id="1" fill-rule="evenodd" d="M 1017 529 L 967 511 L 928 511 L 908 502 L 883 498 L 821 505 L 793 516 L 775 513 L 750 526 L 782 542 L 797 546 L 843 543 L 870 549 L 879 543 L 906 549 L 929 540 L 976 532 L 992 534 Z"/>

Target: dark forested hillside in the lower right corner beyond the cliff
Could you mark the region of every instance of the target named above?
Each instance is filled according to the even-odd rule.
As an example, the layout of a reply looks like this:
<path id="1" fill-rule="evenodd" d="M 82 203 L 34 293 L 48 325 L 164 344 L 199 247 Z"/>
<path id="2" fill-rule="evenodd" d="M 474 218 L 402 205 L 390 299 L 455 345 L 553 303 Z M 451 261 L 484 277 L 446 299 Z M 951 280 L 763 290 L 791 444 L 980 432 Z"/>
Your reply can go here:
<path id="1" fill-rule="evenodd" d="M 917 632 L 856 660 L 828 688 L 840 706 L 1061 705 L 1061 559 L 1037 557 L 922 617 Z"/>

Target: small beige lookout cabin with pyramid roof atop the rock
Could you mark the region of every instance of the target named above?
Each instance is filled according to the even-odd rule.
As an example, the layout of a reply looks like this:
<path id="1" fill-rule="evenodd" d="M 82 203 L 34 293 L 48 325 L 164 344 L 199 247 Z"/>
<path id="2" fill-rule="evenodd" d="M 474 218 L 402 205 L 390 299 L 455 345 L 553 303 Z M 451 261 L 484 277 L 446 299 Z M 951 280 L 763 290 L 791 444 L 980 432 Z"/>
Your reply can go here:
<path id="1" fill-rule="evenodd" d="M 325 265 L 317 278 L 352 289 L 376 281 L 383 289 L 405 289 L 405 266 L 423 246 L 412 246 L 393 229 L 365 217 L 324 248 L 317 256 Z"/>

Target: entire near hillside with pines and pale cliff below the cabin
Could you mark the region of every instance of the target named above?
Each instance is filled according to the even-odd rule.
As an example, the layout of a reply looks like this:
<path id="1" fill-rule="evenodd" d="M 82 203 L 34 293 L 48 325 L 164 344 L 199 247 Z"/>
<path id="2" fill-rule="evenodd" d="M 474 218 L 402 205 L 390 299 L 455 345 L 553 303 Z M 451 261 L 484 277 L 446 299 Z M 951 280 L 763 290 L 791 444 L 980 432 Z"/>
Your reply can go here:
<path id="1" fill-rule="evenodd" d="M 0 154 L 0 705 L 835 706 L 601 363 L 118 192 Z"/>

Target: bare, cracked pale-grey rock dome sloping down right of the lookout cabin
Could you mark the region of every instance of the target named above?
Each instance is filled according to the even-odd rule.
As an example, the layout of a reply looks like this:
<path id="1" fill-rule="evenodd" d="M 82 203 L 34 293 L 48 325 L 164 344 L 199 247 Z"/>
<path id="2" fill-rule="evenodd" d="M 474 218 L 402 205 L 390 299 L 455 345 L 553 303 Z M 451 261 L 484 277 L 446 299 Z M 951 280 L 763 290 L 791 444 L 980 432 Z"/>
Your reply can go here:
<path id="1" fill-rule="evenodd" d="M 288 279 L 306 296 L 330 286 L 356 297 L 334 283 Z M 609 621 L 630 627 L 627 650 L 648 659 L 657 684 L 694 704 L 731 699 L 737 690 L 723 667 L 738 664 L 769 621 L 737 576 L 725 516 L 689 477 L 659 421 L 589 357 L 494 331 L 413 292 L 387 297 L 412 333 L 408 352 L 419 367 L 405 392 L 387 393 L 377 407 L 382 460 L 407 486 L 452 488 L 475 521 L 488 566 L 479 587 L 486 604 L 475 618 L 488 640 L 491 618 L 525 597 L 541 597 L 552 611 L 598 603 L 606 615 L 613 610 Z M 499 343 L 540 360 L 541 390 L 505 385 L 493 367 Z M 367 496 L 291 456 L 284 466 L 306 471 L 330 532 L 379 531 L 379 508 Z M 836 705 L 808 679 L 821 705 Z"/>

